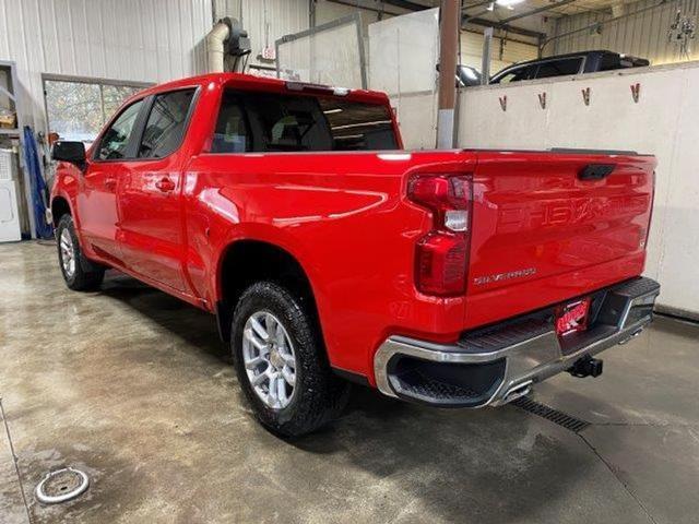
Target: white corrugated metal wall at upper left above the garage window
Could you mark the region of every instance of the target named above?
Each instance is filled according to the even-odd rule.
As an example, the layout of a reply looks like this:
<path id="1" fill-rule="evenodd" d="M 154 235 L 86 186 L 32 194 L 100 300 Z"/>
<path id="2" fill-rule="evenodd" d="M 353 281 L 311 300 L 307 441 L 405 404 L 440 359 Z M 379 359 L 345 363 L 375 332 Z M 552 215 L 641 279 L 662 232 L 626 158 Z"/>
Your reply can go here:
<path id="1" fill-rule="evenodd" d="M 28 123 L 42 73 L 163 82 L 205 70 L 211 0 L 0 0 L 0 59 L 17 64 Z"/>

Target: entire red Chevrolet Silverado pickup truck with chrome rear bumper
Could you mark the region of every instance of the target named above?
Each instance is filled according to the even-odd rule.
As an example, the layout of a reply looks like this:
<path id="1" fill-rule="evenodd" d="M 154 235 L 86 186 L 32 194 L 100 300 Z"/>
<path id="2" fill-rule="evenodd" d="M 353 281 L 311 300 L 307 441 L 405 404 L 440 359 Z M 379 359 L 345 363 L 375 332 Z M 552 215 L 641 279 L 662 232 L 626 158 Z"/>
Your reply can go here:
<path id="1" fill-rule="evenodd" d="M 402 148 L 386 95 L 211 74 L 59 142 L 68 287 L 114 267 L 215 313 L 262 424 L 303 434 L 352 380 L 500 405 L 652 320 L 640 276 L 655 160 Z"/>

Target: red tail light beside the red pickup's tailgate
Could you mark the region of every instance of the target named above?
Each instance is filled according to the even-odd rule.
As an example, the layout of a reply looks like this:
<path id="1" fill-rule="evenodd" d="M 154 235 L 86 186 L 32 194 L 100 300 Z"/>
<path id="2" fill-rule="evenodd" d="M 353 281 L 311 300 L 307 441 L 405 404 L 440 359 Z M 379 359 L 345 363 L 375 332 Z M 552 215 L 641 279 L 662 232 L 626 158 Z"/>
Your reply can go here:
<path id="1" fill-rule="evenodd" d="M 410 200 L 433 212 L 433 229 L 417 242 L 415 284 L 420 293 L 441 297 L 466 290 L 471 228 L 471 178 L 463 175 L 416 175 Z"/>

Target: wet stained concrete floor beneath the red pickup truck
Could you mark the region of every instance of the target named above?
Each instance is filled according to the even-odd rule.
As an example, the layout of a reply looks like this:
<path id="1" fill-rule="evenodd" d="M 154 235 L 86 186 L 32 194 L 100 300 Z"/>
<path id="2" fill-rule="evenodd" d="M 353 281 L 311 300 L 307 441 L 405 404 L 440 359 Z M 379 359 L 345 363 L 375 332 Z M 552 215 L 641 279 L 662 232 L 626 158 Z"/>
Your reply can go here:
<path id="1" fill-rule="evenodd" d="M 659 318 L 602 378 L 541 384 L 580 434 L 357 389 L 289 443 L 252 419 L 213 318 L 123 276 L 69 291 L 54 246 L 0 246 L 0 267 L 2 524 L 699 522 L 697 325 Z M 36 503 L 62 465 L 90 490 Z"/>

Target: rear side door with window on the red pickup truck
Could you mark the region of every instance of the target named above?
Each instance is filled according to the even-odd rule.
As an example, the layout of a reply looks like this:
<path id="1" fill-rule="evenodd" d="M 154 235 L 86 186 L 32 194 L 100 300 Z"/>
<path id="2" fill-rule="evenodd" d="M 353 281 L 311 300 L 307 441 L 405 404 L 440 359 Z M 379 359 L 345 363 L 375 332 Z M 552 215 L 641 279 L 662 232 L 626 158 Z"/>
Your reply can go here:
<path id="1" fill-rule="evenodd" d="M 185 88 L 149 97 L 137 158 L 119 186 L 120 243 L 127 266 L 178 291 L 187 288 L 180 150 L 196 93 Z"/>

